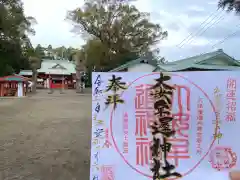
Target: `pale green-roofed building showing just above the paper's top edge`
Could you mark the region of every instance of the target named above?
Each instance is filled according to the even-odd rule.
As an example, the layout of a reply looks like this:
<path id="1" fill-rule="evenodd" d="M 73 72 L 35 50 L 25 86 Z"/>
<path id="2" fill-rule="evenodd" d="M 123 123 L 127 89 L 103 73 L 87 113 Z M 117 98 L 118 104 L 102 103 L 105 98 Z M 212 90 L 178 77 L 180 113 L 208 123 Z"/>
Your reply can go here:
<path id="1" fill-rule="evenodd" d="M 178 71 L 239 71 L 240 61 L 222 49 L 177 61 L 157 63 L 150 58 L 139 58 L 123 64 L 110 72 L 178 72 Z"/>

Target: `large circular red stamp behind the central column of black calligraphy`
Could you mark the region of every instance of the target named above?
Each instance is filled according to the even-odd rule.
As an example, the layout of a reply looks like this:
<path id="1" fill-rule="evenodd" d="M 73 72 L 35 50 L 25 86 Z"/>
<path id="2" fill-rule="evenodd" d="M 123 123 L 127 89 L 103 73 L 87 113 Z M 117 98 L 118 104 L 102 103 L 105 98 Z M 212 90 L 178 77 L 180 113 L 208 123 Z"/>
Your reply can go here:
<path id="1" fill-rule="evenodd" d="M 154 77 L 153 77 L 154 76 Z M 131 107 L 134 109 L 130 109 L 130 106 L 125 106 L 126 109 L 121 109 L 121 113 L 127 112 L 129 113 L 129 117 L 134 117 L 135 121 L 128 120 L 127 123 L 122 118 L 122 116 L 116 116 L 116 113 L 113 113 L 113 110 L 111 111 L 110 116 L 110 129 L 111 137 L 112 137 L 112 143 L 115 148 L 115 150 L 119 153 L 121 158 L 124 160 L 124 162 L 132 168 L 135 172 L 148 177 L 152 179 L 152 173 L 150 173 L 149 165 L 152 163 L 152 154 L 150 150 L 150 144 L 151 144 L 151 129 L 149 129 L 149 124 L 156 118 L 155 117 L 155 111 L 153 110 L 154 106 L 154 100 L 151 96 L 151 88 L 152 84 L 148 84 L 153 78 L 156 78 L 156 76 L 159 76 L 159 72 L 147 74 L 144 76 L 141 76 L 131 82 L 129 84 L 129 92 L 131 92 L 131 98 L 134 101 L 134 103 L 131 103 Z M 208 94 L 204 92 L 201 87 L 199 87 L 197 84 L 192 82 L 191 80 L 185 78 L 184 76 L 181 76 L 179 74 L 171 74 L 173 78 L 173 82 L 171 83 L 174 85 L 175 90 L 172 96 L 169 97 L 169 99 L 172 100 L 172 107 L 171 107 L 171 115 L 174 119 L 174 121 L 171 124 L 172 129 L 176 131 L 175 136 L 168 138 L 167 140 L 169 143 L 171 142 L 172 147 L 170 148 L 170 152 L 167 155 L 167 160 L 169 163 L 175 166 L 177 171 L 181 173 L 183 176 L 186 176 L 190 174 L 193 170 L 195 170 L 202 162 L 209 156 L 209 152 L 212 150 L 212 148 L 215 145 L 215 139 L 210 138 L 204 138 L 208 136 L 209 134 L 203 134 L 203 124 L 208 125 L 213 132 L 216 132 L 216 124 L 212 124 L 211 122 L 208 123 L 208 121 L 205 121 L 205 118 L 207 119 L 207 116 L 209 114 L 211 116 L 216 116 L 216 108 L 214 106 L 214 103 L 209 98 Z M 145 79 L 146 78 L 146 79 Z M 138 81 L 138 80 L 144 81 Z M 180 81 L 179 81 L 180 80 Z M 174 82 L 181 82 L 181 84 L 174 84 Z M 191 142 L 189 141 L 189 138 L 193 138 L 192 134 L 189 133 L 191 128 L 193 127 L 192 124 L 192 110 L 193 107 L 191 105 L 191 101 L 195 101 L 196 98 L 195 91 L 194 94 L 192 94 L 190 90 L 195 89 L 196 92 L 199 92 L 201 94 L 201 102 L 199 102 L 199 109 L 198 109 L 198 139 L 197 141 Z M 124 91 L 122 93 L 122 96 L 125 96 L 127 91 Z M 132 93 L 135 93 L 135 96 L 132 97 Z M 129 96 L 126 96 L 129 97 Z M 203 108 L 204 106 L 204 108 Z M 196 106 L 194 106 L 196 108 Z M 203 109 L 209 109 L 211 111 L 208 111 L 208 113 L 204 113 Z M 131 112 L 130 112 L 131 111 Z M 120 113 L 120 111 L 119 111 Z M 120 119 L 121 118 L 121 119 Z M 125 117 L 126 118 L 126 117 Z M 126 118 L 127 119 L 127 118 Z M 217 119 L 217 117 L 216 117 Z M 195 120 L 195 118 L 194 118 Z M 131 146 L 122 145 L 122 143 L 128 142 L 128 136 L 126 138 L 125 133 L 123 136 L 119 136 L 119 122 L 122 121 L 123 127 L 127 124 L 127 133 L 133 132 L 131 134 Z M 204 122 L 204 123 L 203 123 Z M 126 124 L 125 124 L 126 123 Z M 124 128 L 123 128 L 124 129 Z M 118 133 L 118 134 L 117 134 Z M 129 135 L 129 134 L 128 134 Z M 132 137 L 135 136 L 135 137 Z M 117 138 L 116 138 L 117 137 Z M 129 135 L 130 137 L 130 135 Z M 195 136 L 194 136 L 195 137 Z M 209 144 L 206 147 L 201 147 L 199 144 L 201 143 Z M 129 143 L 129 142 L 128 142 Z M 132 144 L 134 143 L 134 145 Z M 190 144 L 191 143 L 191 144 Z M 193 145 L 192 145 L 193 143 Z M 194 152 L 194 155 L 196 154 L 196 143 L 198 147 L 198 152 L 200 152 L 200 155 L 198 158 L 193 158 L 192 152 Z M 121 148 L 119 147 L 121 146 Z M 125 148 L 127 147 L 127 148 Z M 125 151 L 125 149 L 127 149 Z M 129 156 L 130 153 L 125 152 L 131 152 L 134 153 L 135 156 Z M 192 164 L 192 167 L 186 167 L 182 165 L 182 162 L 188 162 L 189 164 Z M 181 172 L 180 172 L 181 171 Z"/>

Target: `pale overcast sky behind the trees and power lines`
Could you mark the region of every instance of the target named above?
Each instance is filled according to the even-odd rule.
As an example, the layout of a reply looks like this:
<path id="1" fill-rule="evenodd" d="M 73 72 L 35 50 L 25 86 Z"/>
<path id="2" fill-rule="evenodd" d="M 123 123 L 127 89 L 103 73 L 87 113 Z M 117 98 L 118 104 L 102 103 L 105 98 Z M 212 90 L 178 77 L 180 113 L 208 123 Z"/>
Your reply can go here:
<path id="1" fill-rule="evenodd" d="M 83 0 L 23 0 L 23 2 L 25 14 L 35 17 L 38 22 L 34 27 L 36 35 L 31 37 L 34 46 L 51 44 L 53 47 L 80 48 L 84 44 L 80 36 L 70 32 L 72 26 L 65 21 L 67 10 L 81 6 Z M 230 56 L 240 59 L 238 50 L 240 17 L 233 13 L 216 12 L 216 0 L 138 0 L 135 4 L 140 11 L 150 12 L 151 20 L 168 31 L 168 38 L 158 45 L 161 55 L 168 61 L 220 48 Z M 208 20 L 203 23 L 207 18 Z M 178 44 L 189 34 L 192 34 L 193 38 L 179 47 Z M 224 39 L 226 40 L 223 41 Z"/>

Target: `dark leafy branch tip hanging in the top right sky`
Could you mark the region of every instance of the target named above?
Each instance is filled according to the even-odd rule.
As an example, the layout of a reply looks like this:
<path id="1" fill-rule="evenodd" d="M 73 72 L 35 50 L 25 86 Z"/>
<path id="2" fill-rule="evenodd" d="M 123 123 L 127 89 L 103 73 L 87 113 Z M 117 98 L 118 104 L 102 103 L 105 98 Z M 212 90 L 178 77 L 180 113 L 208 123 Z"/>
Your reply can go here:
<path id="1" fill-rule="evenodd" d="M 240 14 L 240 1 L 239 0 L 220 0 L 218 2 L 218 7 L 226 9 L 227 12 L 235 11 Z"/>

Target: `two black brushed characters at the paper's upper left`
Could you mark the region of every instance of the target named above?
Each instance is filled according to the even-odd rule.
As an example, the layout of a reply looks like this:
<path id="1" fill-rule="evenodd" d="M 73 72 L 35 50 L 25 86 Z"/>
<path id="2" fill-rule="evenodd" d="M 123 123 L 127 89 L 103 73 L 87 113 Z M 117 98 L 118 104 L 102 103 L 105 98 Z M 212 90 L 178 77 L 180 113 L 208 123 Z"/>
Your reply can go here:
<path id="1" fill-rule="evenodd" d="M 121 99 L 118 92 L 120 90 L 127 89 L 126 83 L 121 81 L 121 77 L 116 77 L 115 75 L 112 75 L 112 78 L 109 80 L 108 86 L 106 87 L 106 92 L 112 91 L 113 94 L 108 95 L 106 98 L 105 105 L 108 107 L 110 104 L 113 104 L 113 109 L 116 109 L 117 104 L 123 104 L 124 100 Z"/>

